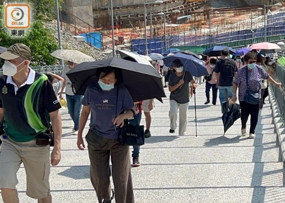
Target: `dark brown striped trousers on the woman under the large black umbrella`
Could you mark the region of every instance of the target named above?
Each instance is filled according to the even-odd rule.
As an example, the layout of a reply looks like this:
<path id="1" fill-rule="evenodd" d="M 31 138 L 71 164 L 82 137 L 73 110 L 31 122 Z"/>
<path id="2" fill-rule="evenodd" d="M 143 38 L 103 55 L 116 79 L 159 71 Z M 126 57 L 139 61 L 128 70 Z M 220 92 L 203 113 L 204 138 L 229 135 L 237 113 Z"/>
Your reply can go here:
<path id="1" fill-rule="evenodd" d="M 134 203 L 129 146 L 121 146 L 117 139 L 98 137 L 98 134 L 90 131 L 86 136 L 90 159 L 90 177 L 99 202 L 111 198 L 110 176 L 112 175 L 116 202 Z M 112 173 L 109 164 L 110 155 Z"/>

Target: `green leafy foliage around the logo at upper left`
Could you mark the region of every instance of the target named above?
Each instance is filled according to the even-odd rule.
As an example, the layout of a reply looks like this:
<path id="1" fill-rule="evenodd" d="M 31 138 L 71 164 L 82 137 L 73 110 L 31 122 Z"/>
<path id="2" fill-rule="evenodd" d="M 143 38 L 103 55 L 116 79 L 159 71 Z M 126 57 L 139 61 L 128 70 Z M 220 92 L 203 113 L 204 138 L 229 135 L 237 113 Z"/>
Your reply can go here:
<path id="1" fill-rule="evenodd" d="M 0 6 L 0 15 L 3 9 L 3 6 Z M 0 27 L 4 27 L 3 19 L 0 21 Z M 56 63 L 56 58 L 51 56 L 50 53 L 55 51 L 58 45 L 52 32 L 52 30 L 44 28 L 39 20 L 36 20 L 32 22 L 28 34 L 21 38 L 13 38 L 7 30 L 0 29 L 0 45 L 8 48 L 14 43 L 26 44 L 32 51 L 31 66 L 53 65 Z"/>

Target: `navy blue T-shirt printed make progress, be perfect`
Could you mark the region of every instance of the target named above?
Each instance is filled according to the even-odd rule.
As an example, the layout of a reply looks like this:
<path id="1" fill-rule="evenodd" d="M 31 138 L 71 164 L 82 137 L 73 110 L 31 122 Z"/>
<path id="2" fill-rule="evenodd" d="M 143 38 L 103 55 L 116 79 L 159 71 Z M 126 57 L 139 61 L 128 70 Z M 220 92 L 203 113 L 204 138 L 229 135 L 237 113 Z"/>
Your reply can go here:
<path id="1" fill-rule="evenodd" d="M 91 107 L 90 129 L 96 130 L 99 135 L 108 139 L 117 139 L 120 127 L 113 125 L 112 119 L 119 115 L 123 109 L 134 107 L 133 99 L 125 86 L 119 86 L 117 114 L 117 86 L 110 91 L 103 91 L 98 83 L 90 84 L 84 94 L 82 104 Z"/>

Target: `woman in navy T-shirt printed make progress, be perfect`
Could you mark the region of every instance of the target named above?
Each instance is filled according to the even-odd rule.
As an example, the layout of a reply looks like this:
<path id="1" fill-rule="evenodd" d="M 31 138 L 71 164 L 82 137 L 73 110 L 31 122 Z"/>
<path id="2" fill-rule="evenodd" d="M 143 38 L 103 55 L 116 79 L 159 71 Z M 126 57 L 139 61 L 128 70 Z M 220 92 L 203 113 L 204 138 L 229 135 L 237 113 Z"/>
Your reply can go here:
<path id="1" fill-rule="evenodd" d="M 91 112 L 86 141 L 90 159 L 90 178 L 98 201 L 109 203 L 115 193 L 116 202 L 133 203 L 129 146 L 120 145 L 117 140 L 124 119 L 133 116 L 130 109 L 135 111 L 135 105 L 129 91 L 120 84 L 120 69 L 99 68 L 97 78 L 98 82 L 87 87 L 82 100 L 77 147 L 80 150 L 85 148 L 82 133 Z M 124 110 L 127 112 L 122 113 Z M 111 190 L 110 184 L 110 155 L 115 192 Z"/>

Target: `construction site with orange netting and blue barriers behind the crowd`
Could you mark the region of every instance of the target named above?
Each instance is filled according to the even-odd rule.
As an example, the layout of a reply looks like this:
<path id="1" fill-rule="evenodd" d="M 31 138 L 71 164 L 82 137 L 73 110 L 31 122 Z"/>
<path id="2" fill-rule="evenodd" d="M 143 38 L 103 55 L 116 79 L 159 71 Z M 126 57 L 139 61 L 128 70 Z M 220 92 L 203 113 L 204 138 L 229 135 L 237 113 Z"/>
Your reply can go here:
<path id="1" fill-rule="evenodd" d="M 261 37 L 259 35 L 264 32 L 261 29 L 268 25 L 270 19 L 281 24 L 278 25 L 279 37 L 272 38 L 272 40 L 268 38 L 269 41 L 284 40 L 282 36 L 285 34 L 285 26 L 282 28 L 282 23 L 284 23 L 285 14 L 284 17 L 280 16 L 280 13 L 284 13 L 284 0 L 164 0 L 161 1 L 162 3 L 155 2 L 159 1 L 113 0 L 116 48 L 145 54 L 145 38 L 148 42 L 148 53 L 161 53 L 170 47 L 199 53 L 211 44 L 241 40 L 247 40 L 245 43 L 250 44 L 258 42 L 258 37 Z M 62 8 L 62 26 L 68 27 L 75 36 L 89 36 L 87 38 L 90 44 L 93 40 L 94 43 L 100 43 L 98 48 L 103 52 L 111 53 L 113 38 L 110 1 L 93 0 L 93 22 L 90 24 L 76 16 L 74 12 L 71 13 L 68 6 Z M 269 31 L 266 31 L 267 37 L 270 37 Z M 97 33 L 98 37 L 92 36 L 93 33 Z M 231 44 L 232 47 L 244 45 Z"/>

